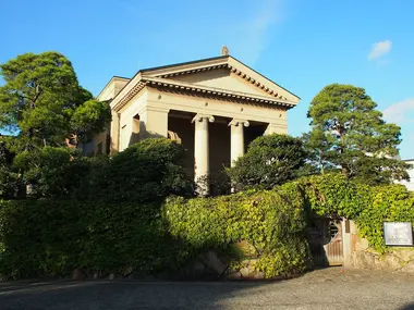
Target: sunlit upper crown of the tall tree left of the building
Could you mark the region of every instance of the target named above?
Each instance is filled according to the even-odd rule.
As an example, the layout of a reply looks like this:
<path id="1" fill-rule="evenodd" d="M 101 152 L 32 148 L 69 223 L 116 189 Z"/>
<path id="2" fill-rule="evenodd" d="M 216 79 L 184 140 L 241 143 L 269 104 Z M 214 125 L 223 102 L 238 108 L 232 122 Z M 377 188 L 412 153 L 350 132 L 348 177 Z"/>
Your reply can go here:
<path id="1" fill-rule="evenodd" d="M 106 103 L 78 85 L 72 63 L 58 52 L 26 53 L 0 65 L 0 128 L 19 134 L 17 151 L 61 146 L 102 132 Z M 74 139 L 75 137 L 75 139 Z"/>

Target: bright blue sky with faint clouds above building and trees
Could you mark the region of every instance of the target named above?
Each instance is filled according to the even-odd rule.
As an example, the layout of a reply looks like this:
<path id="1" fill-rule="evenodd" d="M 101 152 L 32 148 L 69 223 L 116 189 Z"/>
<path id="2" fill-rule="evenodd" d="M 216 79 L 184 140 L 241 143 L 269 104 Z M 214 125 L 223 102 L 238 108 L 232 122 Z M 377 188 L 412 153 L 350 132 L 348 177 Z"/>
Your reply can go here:
<path id="1" fill-rule="evenodd" d="M 401 126 L 414 158 L 414 1 L 0 0 L 0 63 L 59 51 L 98 95 L 113 76 L 230 54 L 301 97 L 289 134 L 309 129 L 312 99 L 332 83 L 366 89 Z"/>

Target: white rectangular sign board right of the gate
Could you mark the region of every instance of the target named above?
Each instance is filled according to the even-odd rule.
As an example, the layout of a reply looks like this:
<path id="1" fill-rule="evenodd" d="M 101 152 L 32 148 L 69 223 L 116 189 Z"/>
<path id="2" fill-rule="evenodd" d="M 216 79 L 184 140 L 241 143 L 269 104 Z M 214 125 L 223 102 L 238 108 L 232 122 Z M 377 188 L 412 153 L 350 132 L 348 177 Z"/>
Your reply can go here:
<path id="1" fill-rule="evenodd" d="M 412 246 L 413 226 L 411 222 L 385 222 L 386 246 Z"/>

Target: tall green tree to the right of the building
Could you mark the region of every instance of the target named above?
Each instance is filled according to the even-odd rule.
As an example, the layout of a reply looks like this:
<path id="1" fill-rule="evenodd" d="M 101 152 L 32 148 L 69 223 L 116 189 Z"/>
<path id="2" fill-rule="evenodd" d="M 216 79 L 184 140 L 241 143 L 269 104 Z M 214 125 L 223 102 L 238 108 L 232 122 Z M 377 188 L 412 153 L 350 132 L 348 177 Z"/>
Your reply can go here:
<path id="1" fill-rule="evenodd" d="M 400 127 L 387 124 L 364 88 L 332 84 L 310 102 L 312 131 L 305 136 L 310 160 L 337 166 L 349 178 L 390 183 L 407 178 L 407 164 L 395 159 Z"/>

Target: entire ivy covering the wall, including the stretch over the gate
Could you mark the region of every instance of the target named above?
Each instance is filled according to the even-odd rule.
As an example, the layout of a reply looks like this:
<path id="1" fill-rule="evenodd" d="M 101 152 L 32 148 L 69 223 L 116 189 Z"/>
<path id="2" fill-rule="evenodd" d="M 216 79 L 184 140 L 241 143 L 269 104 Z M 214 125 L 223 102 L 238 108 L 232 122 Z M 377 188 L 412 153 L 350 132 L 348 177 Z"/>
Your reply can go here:
<path id="1" fill-rule="evenodd" d="M 156 274 L 211 250 L 227 272 L 242 272 L 248 260 L 261 277 L 297 274 L 312 266 L 306 230 L 314 215 L 354 220 L 383 253 L 382 222 L 413 222 L 414 197 L 400 185 L 368 187 L 332 174 L 272 190 L 165 202 L 0 201 L 0 275 Z"/>

